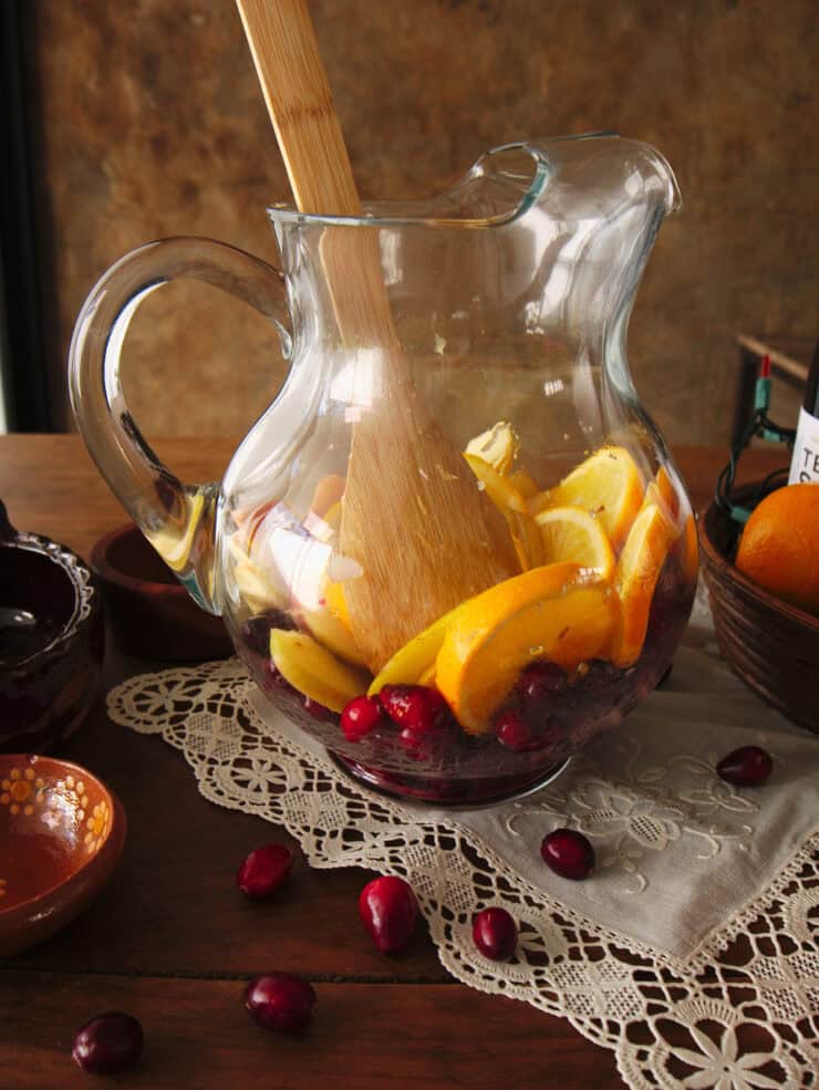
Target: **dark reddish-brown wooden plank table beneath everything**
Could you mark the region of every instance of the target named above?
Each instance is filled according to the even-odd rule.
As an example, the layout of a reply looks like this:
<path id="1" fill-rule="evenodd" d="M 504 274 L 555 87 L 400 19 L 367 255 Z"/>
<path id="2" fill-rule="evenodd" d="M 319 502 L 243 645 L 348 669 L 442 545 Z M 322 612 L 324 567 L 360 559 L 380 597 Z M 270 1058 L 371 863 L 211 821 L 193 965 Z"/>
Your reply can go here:
<path id="1" fill-rule="evenodd" d="M 218 476 L 234 444 L 157 444 L 184 478 Z M 696 507 L 708 501 L 723 449 L 684 449 Z M 780 450 L 751 450 L 759 475 Z M 0 437 L 0 498 L 11 521 L 87 558 L 124 521 L 75 436 Z M 106 687 L 157 664 L 108 641 Z M 426 933 L 401 957 L 375 952 L 357 918 L 363 871 L 311 871 L 298 855 L 273 901 L 250 903 L 234 875 L 246 853 L 288 835 L 198 793 L 182 756 L 108 722 L 101 700 L 60 750 L 101 775 L 128 814 L 111 884 L 75 923 L 0 968 L 0 1090 L 72 1090 L 91 1078 L 71 1059 L 74 1032 L 104 1010 L 143 1024 L 146 1050 L 122 1084 L 152 1090 L 318 1087 L 621 1087 L 613 1053 L 567 1021 L 454 982 Z M 294 845 L 291 845 L 294 847 Z M 242 1007 L 245 982 L 286 969 L 319 995 L 308 1034 L 266 1034 Z M 102 1084 L 102 1083 L 101 1083 Z"/>

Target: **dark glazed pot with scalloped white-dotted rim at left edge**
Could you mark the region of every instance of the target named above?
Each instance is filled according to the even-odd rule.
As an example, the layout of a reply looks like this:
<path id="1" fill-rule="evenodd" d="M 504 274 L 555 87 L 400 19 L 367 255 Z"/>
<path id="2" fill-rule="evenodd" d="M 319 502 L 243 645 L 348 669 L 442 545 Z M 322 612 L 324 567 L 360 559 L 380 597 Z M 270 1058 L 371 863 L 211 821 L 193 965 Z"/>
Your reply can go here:
<path id="1" fill-rule="evenodd" d="M 0 502 L 0 752 L 40 752 L 75 730 L 102 657 L 90 569 L 64 546 L 14 530 Z"/>

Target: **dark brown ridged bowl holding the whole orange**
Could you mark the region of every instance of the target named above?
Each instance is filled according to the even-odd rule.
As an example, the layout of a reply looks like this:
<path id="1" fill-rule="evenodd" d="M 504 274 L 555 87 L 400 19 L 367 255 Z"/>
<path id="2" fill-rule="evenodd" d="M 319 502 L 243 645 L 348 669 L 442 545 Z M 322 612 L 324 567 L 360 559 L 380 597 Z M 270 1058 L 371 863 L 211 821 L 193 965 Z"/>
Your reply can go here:
<path id="1" fill-rule="evenodd" d="M 737 490 L 748 501 L 758 486 Z M 702 571 L 729 666 L 794 723 L 819 733 L 819 617 L 751 582 L 733 563 L 730 520 L 712 502 L 699 518 Z"/>

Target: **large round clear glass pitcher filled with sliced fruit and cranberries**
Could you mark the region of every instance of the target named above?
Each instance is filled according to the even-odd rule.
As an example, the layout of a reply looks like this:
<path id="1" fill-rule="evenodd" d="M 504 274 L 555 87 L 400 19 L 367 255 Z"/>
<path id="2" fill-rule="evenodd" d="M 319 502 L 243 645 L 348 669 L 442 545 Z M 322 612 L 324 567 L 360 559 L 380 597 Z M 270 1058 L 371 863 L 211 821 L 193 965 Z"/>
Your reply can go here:
<path id="1" fill-rule="evenodd" d="M 85 302 L 70 385 L 97 466 L 271 706 L 367 783 L 535 789 L 670 666 L 696 528 L 625 338 L 678 205 L 645 144 L 510 144 L 434 200 L 269 209 L 281 271 L 170 239 Z M 340 300 L 373 268 L 386 325 L 353 328 Z M 256 307 L 290 363 L 216 484 L 160 464 L 120 384 L 133 313 L 176 277 Z"/>

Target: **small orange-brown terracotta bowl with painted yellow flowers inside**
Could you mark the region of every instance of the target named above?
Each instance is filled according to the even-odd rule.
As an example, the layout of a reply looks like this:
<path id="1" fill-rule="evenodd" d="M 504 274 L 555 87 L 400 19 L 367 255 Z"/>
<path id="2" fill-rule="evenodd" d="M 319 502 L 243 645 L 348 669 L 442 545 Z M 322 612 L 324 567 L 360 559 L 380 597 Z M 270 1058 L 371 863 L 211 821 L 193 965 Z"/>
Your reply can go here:
<path id="1" fill-rule="evenodd" d="M 0 957 L 86 909 L 125 842 L 122 803 L 79 765 L 0 756 Z"/>

